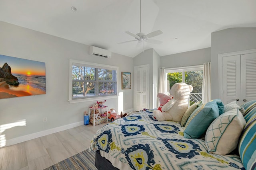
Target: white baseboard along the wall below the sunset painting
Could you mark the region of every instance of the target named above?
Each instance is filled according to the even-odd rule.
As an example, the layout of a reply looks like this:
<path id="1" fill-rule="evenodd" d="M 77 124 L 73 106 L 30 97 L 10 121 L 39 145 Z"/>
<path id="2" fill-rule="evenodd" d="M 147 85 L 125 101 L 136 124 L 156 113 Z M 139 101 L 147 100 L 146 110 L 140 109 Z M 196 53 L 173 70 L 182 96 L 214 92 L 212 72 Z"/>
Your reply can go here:
<path id="1" fill-rule="evenodd" d="M 56 132 L 64 131 L 64 130 L 67 130 L 67 129 L 71 129 L 73 127 L 78 127 L 78 126 L 81 126 L 81 125 L 84 125 L 84 121 L 71 123 L 71 124 L 68 124 L 68 125 L 60 126 L 60 127 L 55 127 L 55 128 L 52 128 L 52 129 L 47 129 L 45 131 L 40 131 L 40 132 L 37 132 L 37 133 L 32 133 L 32 134 L 21 136 L 21 137 L 16 137 L 16 138 L 13 138 L 13 139 L 8 139 L 8 140 L 6 140 L 6 145 L 4 147 L 10 146 L 10 145 L 15 145 L 17 143 L 21 143 L 21 142 L 25 142 L 25 141 L 29 141 L 31 139 L 35 139 L 35 138 L 42 137 L 42 136 L 45 136 L 45 135 L 50 135 L 52 133 L 56 133 Z"/>

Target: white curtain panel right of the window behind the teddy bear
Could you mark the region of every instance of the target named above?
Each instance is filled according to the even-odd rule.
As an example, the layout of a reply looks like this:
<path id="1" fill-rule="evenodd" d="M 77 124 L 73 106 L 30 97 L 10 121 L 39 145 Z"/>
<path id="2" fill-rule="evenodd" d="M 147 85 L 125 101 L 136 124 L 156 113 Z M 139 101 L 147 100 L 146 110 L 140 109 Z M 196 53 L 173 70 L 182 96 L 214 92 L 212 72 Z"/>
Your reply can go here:
<path id="1" fill-rule="evenodd" d="M 211 63 L 204 63 L 203 70 L 203 88 L 202 88 L 202 102 L 203 104 L 211 100 Z"/>

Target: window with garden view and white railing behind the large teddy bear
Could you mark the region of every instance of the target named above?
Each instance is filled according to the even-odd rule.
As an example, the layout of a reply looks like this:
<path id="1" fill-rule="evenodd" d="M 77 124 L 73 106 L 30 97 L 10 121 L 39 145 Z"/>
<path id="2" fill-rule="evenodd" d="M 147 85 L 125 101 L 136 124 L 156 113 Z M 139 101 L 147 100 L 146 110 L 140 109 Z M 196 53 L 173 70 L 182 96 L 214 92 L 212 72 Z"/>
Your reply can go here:
<path id="1" fill-rule="evenodd" d="M 190 106 L 195 102 L 202 101 L 203 65 L 167 68 L 165 69 L 165 76 L 166 94 L 169 94 L 170 88 L 175 83 L 185 82 L 193 86 L 193 91 L 190 93 Z"/>

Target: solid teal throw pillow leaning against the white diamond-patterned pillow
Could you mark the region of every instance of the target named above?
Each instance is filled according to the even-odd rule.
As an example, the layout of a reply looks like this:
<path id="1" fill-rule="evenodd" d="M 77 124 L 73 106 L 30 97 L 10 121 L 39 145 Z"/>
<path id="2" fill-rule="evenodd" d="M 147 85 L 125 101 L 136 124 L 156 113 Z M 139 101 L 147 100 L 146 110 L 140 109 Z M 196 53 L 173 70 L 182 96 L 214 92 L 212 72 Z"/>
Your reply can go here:
<path id="1" fill-rule="evenodd" d="M 219 116 L 217 101 L 208 102 L 198 107 L 188 118 L 185 125 L 185 138 L 200 138 L 209 125 Z"/>

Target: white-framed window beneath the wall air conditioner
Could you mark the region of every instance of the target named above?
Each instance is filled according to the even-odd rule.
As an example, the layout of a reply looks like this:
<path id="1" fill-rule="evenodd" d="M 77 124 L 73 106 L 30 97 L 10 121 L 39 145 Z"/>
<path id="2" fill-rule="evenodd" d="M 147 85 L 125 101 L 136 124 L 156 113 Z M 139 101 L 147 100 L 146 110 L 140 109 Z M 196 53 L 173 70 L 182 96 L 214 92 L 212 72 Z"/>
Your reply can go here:
<path id="1" fill-rule="evenodd" d="M 116 98 L 118 67 L 70 60 L 70 103 Z"/>

